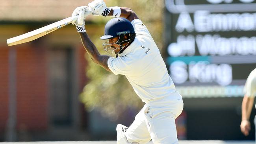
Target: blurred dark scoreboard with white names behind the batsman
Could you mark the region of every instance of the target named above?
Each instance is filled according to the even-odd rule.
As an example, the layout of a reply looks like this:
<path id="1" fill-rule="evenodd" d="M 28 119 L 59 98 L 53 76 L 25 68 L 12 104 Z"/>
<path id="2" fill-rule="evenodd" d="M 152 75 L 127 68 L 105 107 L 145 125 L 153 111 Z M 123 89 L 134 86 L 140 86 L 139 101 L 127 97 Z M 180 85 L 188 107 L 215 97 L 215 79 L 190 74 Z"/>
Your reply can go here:
<path id="1" fill-rule="evenodd" d="M 256 68 L 256 0 L 165 0 L 166 63 L 185 98 L 243 96 Z"/>

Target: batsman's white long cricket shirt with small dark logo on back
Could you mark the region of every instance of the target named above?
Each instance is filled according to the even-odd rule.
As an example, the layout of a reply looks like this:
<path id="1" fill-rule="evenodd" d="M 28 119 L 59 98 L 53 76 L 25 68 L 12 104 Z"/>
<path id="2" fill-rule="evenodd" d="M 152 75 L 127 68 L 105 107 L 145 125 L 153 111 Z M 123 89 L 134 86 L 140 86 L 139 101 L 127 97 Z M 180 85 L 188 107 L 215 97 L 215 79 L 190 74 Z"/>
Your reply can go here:
<path id="1" fill-rule="evenodd" d="M 176 89 L 156 43 L 141 20 L 131 23 L 136 37 L 119 57 L 109 57 L 109 69 L 125 75 L 143 102 L 171 96 Z"/>

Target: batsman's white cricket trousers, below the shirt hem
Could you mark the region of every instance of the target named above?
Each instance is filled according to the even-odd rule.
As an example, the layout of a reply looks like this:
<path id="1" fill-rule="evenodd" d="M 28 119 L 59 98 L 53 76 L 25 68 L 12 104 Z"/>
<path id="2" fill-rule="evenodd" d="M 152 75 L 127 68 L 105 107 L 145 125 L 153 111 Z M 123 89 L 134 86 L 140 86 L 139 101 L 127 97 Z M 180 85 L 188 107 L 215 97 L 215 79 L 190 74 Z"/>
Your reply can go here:
<path id="1" fill-rule="evenodd" d="M 182 113 L 183 100 L 178 92 L 146 102 L 125 136 L 128 142 L 146 144 L 178 144 L 175 119 Z"/>

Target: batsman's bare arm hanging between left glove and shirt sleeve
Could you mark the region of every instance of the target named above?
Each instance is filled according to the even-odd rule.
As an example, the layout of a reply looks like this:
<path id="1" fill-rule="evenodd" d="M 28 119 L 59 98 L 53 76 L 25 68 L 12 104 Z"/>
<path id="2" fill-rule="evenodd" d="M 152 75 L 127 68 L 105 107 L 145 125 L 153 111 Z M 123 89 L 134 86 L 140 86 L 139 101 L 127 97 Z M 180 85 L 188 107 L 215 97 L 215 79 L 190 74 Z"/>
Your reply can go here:
<path id="1" fill-rule="evenodd" d="M 81 41 L 83 43 L 83 47 L 85 48 L 86 52 L 89 54 L 93 62 L 96 64 L 102 66 L 109 72 L 111 72 L 108 68 L 108 55 L 101 55 L 96 46 L 93 44 L 93 42 L 88 37 L 87 33 L 79 33 L 81 37 Z"/>

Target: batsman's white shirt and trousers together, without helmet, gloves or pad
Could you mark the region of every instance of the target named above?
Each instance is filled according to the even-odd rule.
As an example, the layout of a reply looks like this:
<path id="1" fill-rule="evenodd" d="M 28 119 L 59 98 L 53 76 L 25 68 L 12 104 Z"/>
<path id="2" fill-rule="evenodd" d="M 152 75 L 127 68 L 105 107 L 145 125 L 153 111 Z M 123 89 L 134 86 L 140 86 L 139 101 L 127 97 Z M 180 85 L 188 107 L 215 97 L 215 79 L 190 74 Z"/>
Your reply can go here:
<path id="1" fill-rule="evenodd" d="M 119 57 L 108 59 L 115 75 L 125 75 L 145 106 L 128 127 L 128 142 L 176 144 L 175 118 L 183 109 L 182 96 L 176 92 L 156 43 L 139 19 L 132 22 L 136 37 Z"/>

